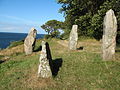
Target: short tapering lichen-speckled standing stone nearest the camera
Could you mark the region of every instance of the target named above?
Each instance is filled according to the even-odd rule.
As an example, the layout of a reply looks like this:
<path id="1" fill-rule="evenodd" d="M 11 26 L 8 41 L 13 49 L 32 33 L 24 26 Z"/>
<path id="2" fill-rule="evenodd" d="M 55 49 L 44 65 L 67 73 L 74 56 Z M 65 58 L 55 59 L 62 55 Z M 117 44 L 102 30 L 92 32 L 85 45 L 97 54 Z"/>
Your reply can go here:
<path id="1" fill-rule="evenodd" d="M 50 58 L 51 55 L 49 51 L 47 50 L 47 43 L 42 41 L 42 51 L 40 54 L 40 59 L 39 59 L 39 68 L 38 68 L 38 77 L 42 78 L 50 78 L 52 77 L 52 72 L 50 68 Z"/>

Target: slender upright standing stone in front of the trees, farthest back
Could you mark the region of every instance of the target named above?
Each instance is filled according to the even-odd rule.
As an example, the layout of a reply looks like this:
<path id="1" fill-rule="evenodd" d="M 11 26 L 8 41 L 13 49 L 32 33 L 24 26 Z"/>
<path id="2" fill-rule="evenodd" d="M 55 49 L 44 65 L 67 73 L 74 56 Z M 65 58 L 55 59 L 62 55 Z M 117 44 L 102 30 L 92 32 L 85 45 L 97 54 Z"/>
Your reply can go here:
<path id="1" fill-rule="evenodd" d="M 73 25 L 72 30 L 70 32 L 70 37 L 69 37 L 69 49 L 70 50 L 77 49 L 77 41 L 78 41 L 77 29 L 78 29 L 78 25 Z"/>

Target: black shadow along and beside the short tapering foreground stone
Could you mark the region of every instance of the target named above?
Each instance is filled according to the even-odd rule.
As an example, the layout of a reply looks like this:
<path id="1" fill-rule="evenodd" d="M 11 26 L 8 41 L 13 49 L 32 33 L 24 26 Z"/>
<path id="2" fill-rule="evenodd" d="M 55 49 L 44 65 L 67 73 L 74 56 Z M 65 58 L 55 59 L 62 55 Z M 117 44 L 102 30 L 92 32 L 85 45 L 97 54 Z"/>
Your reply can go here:
<path id="1" fill-rule="evenodd" d="M 52 75 L 55 77 L 58 74 L 59 68 L 62 67 L 63 60 L 62 58 L 57 58 L 55 60 L 52 60 L 50 47 L 47 42 L 46 42 L 46 50 L 47 50 L 47 59 L 49 60 Z"/>

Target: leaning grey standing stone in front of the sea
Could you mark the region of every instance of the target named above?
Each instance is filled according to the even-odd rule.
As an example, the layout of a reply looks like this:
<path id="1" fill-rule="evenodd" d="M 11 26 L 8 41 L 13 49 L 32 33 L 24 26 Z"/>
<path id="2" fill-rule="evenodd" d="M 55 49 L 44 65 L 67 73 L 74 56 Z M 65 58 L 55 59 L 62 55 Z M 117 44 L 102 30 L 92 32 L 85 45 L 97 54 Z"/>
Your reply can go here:
<path id="1" fill-rule="evenodd" d="M 37 30 L 32 28 L 29 34 L 27 35 L 27 37 L 25 38 L 24 51 L 26 55 L 32 54 L 33 52 L 33 49 L 35 47 L 36 34 L 37 34 Z"/>

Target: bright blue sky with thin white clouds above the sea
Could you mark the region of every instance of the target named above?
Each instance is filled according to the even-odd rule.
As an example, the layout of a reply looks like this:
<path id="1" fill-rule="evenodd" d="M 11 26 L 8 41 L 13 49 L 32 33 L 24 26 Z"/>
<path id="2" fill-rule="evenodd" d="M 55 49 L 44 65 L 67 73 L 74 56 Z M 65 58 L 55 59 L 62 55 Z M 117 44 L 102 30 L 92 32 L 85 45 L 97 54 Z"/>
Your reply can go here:
<path id="1" fill-rule="evenodd" d="M 64 21 L 59 8 L 56 0 L 0 0 L 0 32 L 28 33 L 34 27 L 44 34 L 40 26 L 48 20 Z"/>

